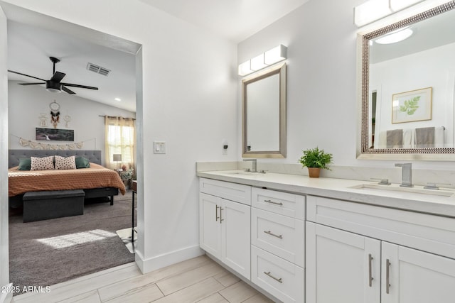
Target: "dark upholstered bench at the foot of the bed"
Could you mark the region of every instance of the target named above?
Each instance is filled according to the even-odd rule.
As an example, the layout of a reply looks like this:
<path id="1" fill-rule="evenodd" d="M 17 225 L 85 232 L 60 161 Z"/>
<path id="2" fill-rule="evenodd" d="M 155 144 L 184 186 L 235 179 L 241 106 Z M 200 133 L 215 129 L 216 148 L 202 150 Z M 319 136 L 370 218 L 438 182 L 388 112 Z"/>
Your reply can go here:
<path id="1" fill-rule="evenodd" d="M 82 189 L 26 192 L 23 194 L 23 222 L 84 214 Z"/>

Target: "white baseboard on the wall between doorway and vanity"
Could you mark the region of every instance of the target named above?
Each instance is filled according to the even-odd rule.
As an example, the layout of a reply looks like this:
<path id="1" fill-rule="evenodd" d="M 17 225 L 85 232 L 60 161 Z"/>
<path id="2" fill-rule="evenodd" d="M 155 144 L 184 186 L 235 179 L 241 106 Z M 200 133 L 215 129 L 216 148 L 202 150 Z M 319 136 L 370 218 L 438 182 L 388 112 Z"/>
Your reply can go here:
<path id="1" fill-rule="evenodd" d="M 203 255 L 204 251 L 198 245 L 189 246 L 180 250 L 174 250 L 163 255 L 156 255 L 153 258 L 145 259 L 144 255 L 136 250 L 136 264 L 142 273 L 151 272 L 164 268 L 168 265 L 173 265 L 191 258 L 196 258 Z"/>

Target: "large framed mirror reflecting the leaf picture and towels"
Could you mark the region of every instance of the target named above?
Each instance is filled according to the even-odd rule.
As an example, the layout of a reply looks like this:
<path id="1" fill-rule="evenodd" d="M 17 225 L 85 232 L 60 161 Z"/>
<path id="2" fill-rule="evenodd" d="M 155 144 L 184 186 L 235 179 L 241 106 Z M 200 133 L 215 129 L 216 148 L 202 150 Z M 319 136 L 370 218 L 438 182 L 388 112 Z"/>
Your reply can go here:
<path id="1" fill-rule="evenodd" d="M 358 158 L 455 160 L 454 28 L 450 1 L 358 36 Z"/>

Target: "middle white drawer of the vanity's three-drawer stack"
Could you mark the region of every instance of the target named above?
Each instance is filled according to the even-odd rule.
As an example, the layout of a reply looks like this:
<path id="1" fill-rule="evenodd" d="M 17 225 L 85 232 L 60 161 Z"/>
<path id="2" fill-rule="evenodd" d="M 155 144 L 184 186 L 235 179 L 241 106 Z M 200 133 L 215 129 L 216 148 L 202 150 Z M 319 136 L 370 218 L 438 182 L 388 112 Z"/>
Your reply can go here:
<path id="1" fill-rule="evenodd" d="M 299 219 L 254 207 L 251 210 L 252 244 L 302 268 L 305 266 L 304 226 L 304 221 Z"/>

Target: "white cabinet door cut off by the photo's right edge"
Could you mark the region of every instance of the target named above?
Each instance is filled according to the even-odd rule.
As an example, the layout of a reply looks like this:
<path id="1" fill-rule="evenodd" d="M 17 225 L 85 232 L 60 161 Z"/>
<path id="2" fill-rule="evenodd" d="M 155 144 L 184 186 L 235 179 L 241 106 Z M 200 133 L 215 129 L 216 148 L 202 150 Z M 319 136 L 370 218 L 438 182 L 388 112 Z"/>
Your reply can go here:
<path id="1" fill-rule="evenodd" d="M 382 303 L 453 303 L 455 260 L 382 242 L 381 293 Z"/>

